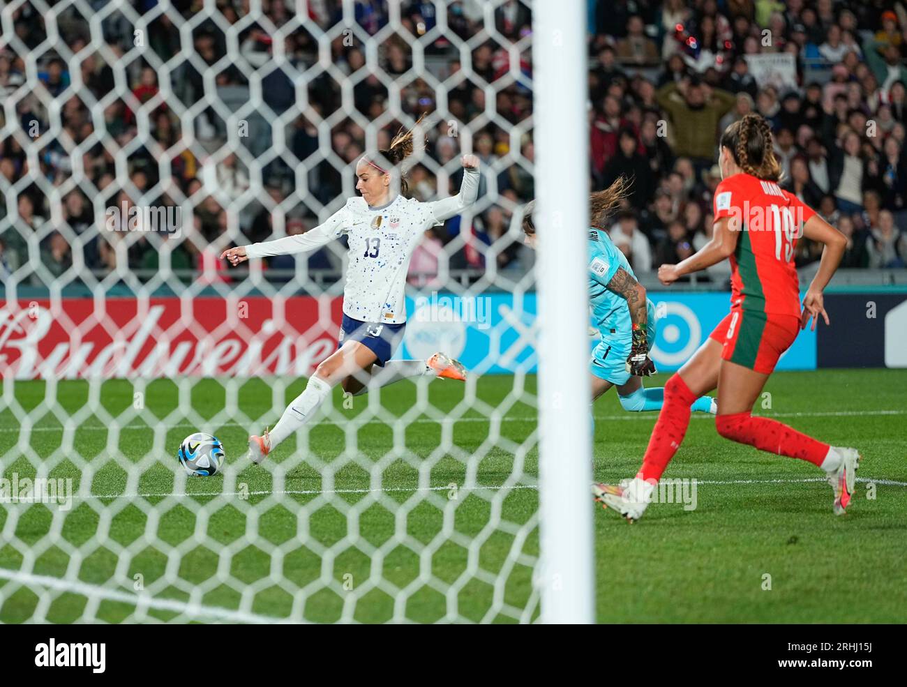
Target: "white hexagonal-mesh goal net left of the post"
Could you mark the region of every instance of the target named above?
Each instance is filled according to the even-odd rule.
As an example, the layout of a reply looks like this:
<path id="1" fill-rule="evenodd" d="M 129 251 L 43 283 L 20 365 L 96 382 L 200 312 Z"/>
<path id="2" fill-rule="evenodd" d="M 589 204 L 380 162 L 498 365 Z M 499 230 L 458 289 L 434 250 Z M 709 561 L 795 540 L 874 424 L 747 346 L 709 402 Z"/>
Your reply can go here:
<path id="1" fill-rule="evenodd" d="M 12 0 L 2 11 L 0 621 L 533 622 L 532 15 L 500 2 Z M 421 116 L 397 358 L 261 465 L 336 348 L 346 247 L 229 268 L 357 195 Z M 176 458 L 222 441 L 218 475 Z"/>

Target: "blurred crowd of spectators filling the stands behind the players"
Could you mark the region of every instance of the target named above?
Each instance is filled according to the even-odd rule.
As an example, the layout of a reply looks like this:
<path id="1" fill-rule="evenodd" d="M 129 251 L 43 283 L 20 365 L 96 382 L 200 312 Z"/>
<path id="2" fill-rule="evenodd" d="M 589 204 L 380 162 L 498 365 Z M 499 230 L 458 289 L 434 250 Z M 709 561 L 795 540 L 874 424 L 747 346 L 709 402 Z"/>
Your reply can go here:
<path id="1" fill-rule="evenodd" d="M 147 24 L 133 24 L 125 5 Z M 309 0 L 301 17 L 291 5 L 261 0 L 259 15 L 249 0 L 219 0 L 210 16 L 200 0 L 172 0 L 167 12 L 156 0 L 88 0 L 83 6 L 102 21 L 93 28 L 78 8 L 61 9 L 55 40 L 34 5 L 13 10 L 15 36 L 5 36 L 0 50 L 0 276 L 68 284 L 85 271 L 103 278 L 126 260 L 147 277 L 172 242 L 165 252 L 180 274 L 236 278 L 217 260 L 220 250 L 303 233 L 355 193 L 353 165 L 370 148 L 366 122 L 379 123 L 375 142 L 384 148 L 406 121 L 389 112 L 392 83 L 402 111 L 427 115 L 424 153 L 409 172 L 414 197 L 455 193 L 463 150 L 483 162 L 476 212 L 426 233 L 411 281 L 435 284 L 445 255 L 465 280 L 492 262 L 502 274 L 524 271 L 532 258 L 512 217 L 535 190 L 526 121 L 530 6 L 463 0 L 447 3 L 439 17 L 433 2 L 404 0 L 396 23 L 378 0 L 356 0 L 346 15 L 339 0 Z M 708 240 L 717 137 L 751 111 L 771 122 L 785 188 L 850 239 L 844 266 L 905 266 L 902 3 L 587 5 L 591 154 L 576 163 L 588 166 L 590 189 L 620 175 L 634 179 L 610 233 L 638 274 Z M 321 32 L 331 40 L 323 41 L 319 67 Z M 366 35 L 375 36 L 376 69 L 366 59 Z M 286 60 L 275 58 L 280 36 Z M 423 50 L 414 53 L 414 41 Z M 23 89 L 31 85 L 26 55 L 36 58 L 40 84 Z M 258 92 L 262 105 L 251 108 Z M 7 121 L 13 111 L 16 121 Z M 233 112 L 245 129 L 228 131 Z M 32 160 L 24 151 L 29 136 L 39 146 Z M 437 174 L 442 166 L 449 175 Z M 438 188 L 439 179 L 447 188 Z M 145 192 L 153 204 L 189 198 L 194 230 L 181 237 L 95 231 L 99 209 L 130 206 Z M 817 247 L 799 242 L 798 266 L 818 258 Z M 339 266 L 331 250 L 303 259 L 315 273 Z M 268 272 L 287 279 L 295 265 L 293 256 L 271 258 Z M 723 284 L 727 267 L 706 279 Z"/>

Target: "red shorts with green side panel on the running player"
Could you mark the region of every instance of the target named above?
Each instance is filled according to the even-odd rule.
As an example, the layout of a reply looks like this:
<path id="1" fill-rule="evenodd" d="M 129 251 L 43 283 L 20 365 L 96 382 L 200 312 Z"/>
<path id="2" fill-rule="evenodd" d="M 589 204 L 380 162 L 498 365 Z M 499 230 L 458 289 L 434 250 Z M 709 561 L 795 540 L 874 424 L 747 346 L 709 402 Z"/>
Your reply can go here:
<path id="1" fill-rule="evenodd" d="M 800 318 L 793 314 L 734 308 L 709 338 L 722 344 L 723 360 L 771 374 L 799 332 Z"/>

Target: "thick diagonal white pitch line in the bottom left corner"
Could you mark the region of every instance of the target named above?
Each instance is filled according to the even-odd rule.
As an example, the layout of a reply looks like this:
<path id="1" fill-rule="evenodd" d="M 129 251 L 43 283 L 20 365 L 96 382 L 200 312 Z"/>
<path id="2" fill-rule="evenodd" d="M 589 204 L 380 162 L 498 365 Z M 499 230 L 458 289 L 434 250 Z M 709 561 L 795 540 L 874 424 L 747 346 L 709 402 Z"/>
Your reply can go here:
<path id="1" fill-rule="evenodd" d="M 128 594 L 119 589 L 110 589 L 99 585 L 89 585 L 84 582 L 63 580 L 60 577 L 34 575 L 32 573 L 23 573 L 19 570 L 9 570 L 0 568 L 0 579 L 9 580 L 20 585 L 43 586 L 47 589 L 53 589 L 59 592 L 68 592 L 87 596 L 89 598 L 100 598 L 107 601 L 118 601 L 124 604 L 153 608 L 158 611 L 173 611 L 192 618 L 215 618 L 217 620 L 227 620 L 236 623 L 257 623 L 273 624 L 287 623 L 285 618 L 275 618 L 269 615 L 258 615 L 246 613 L 245 611 L 231 611 L 228 608 L 219 608 L 218 606 L 209 606 L 201 604 L 191 604 L 176 599 L 159 599 L 153 596 L 143 596 Z"/>

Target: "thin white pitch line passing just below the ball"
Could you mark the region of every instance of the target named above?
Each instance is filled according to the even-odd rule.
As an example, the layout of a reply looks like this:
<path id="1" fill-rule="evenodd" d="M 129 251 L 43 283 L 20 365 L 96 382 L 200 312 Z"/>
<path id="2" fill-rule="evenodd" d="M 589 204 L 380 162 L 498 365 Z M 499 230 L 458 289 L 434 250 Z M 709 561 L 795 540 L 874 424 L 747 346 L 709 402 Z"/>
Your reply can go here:
<path id="1" fill-rule="evenodd" d="M 673 479 L 673 478 L 672 478 Z M 687 478 L 681 478 L 687 479 Z M 718 485 L 718 486 L 728 486 L 734 484 L 807 484 L 811 482 L 824 482 L 826 479 L 823 477 L 813 477 L 813 478 L 802 478 L 802 479 L 697 479 L 697 484 L 707 484 L 707 485 Z M 873 479 L 868 477 L 858 477 L 856 478 L 858 482 L 872 482 L 873 484 L 881 484 L 886 487 L 907 487 L 907 482 L 901 482 L 894 479 Z M 395 493 L 395 492 L 413 492 L 420 493 L 426 491 L 448 491 L 454 489 L 450 484 L 439 485 L 436 487 L 386 487 L 379 489 L 282 489 L 278 491 L 272 491 L 270 489 L 263 489 L 257 491 L 249 492 L 239 492 L 239 491 L 203 491 L 198 493 L 132 493 L 132 494 L 76 494 L 73 495 L 73 499 L 89 499 L 89 498 L 169 498 L 169 497 L 217 497 L 217 496 L 227 496 L 227 497 L 240 497 L 240 496 L 332 496 L 338 494 L 378 494 L 378 493 Z M 502 491 L 507 489 L 539 489 L 537 484 L 512 484 L 502 485 L 502 484 L 492 484 L 492 485 L 482 485 L 478 484 L 473 487 L 461 487 L 457 485 L 455 487 L 458 491 Z"/>

